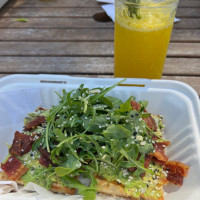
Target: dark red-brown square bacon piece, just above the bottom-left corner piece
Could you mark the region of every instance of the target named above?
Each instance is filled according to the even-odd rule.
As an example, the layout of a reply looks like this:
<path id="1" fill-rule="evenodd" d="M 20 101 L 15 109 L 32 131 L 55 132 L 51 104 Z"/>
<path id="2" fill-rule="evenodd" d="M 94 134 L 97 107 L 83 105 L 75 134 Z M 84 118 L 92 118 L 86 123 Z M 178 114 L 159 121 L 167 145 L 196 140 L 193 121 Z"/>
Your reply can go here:
<path id="1" fill-rule="evenodd" d="M 22 156 L 23 154 L 28 153 L 31 150 L 33 142 L 33 136 L 16 131 L 13 144 L 9 149 L 9 153 L 11 155 Z"/>

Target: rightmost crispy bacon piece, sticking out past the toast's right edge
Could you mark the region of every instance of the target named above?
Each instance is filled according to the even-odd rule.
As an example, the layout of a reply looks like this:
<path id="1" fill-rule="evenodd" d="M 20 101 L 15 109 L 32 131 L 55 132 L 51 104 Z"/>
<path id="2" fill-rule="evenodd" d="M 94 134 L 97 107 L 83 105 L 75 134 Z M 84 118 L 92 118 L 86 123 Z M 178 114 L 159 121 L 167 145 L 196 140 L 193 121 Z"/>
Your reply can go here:
<path id="1" fill-rule="evenodd" d="M 189 166 L 178 161 L 167 161 L 164 165 L 167 173 L 167 180 L 175 185 L 182 185 L 183 178 L 188 175 Z"/>

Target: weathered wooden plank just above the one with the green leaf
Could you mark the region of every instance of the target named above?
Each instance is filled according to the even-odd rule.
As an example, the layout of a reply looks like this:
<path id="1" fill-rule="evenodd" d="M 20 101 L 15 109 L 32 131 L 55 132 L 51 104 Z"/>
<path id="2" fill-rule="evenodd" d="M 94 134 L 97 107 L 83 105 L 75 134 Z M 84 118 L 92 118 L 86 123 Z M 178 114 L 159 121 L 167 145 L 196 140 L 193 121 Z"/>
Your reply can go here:
<path id="1" fill-rule="evenodd" d="M 92 17 L 104 12 L 97 8 L 4 8 L 0 17 Z M 178 8 L 177 17 L 200 17 L 200 8 Z"/>

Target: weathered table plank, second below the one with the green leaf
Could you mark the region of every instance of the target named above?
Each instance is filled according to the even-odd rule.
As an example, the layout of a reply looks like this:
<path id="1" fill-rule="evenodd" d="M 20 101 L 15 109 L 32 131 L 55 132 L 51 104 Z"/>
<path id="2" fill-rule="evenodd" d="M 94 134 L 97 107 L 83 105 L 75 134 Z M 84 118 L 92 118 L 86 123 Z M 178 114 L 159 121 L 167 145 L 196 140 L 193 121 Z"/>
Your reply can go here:
<path id="1" fill-rule="evenodd" d="M 113 42 L 0 42 L 0 56 L 113 56 Z M 170 43 L 168 56 L 200 57 L 200 43 Z"/>

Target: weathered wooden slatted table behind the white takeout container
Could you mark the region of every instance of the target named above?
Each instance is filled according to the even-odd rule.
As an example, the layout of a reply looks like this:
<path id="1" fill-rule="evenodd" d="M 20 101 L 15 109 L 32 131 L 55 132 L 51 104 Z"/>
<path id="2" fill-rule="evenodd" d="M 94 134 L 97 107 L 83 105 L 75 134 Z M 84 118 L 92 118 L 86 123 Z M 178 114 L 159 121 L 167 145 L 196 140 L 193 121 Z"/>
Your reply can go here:
<path id="1" fill-rule="evenodd" d="M 9 0 L 0 10 L 0 77 L 112 77 L 114 23 L 102 12 L 96 0 Z M 177 17 L 163 79 L 188 83 L 200 95 L 200 0 L 180 0 Z"/>

